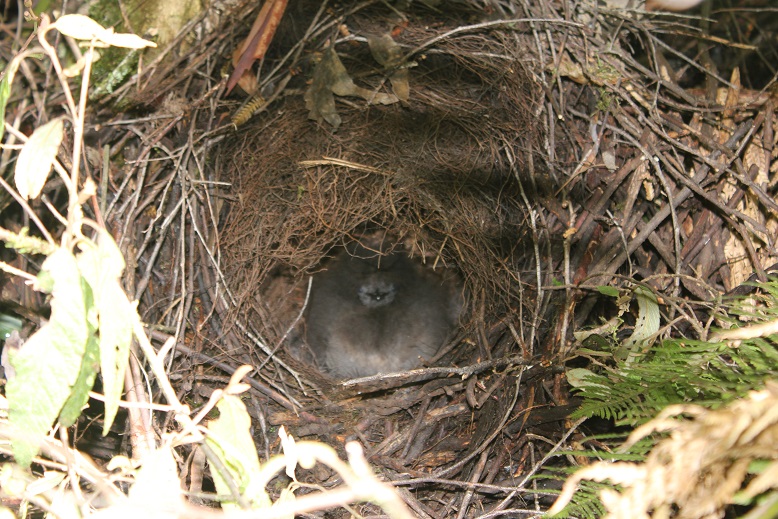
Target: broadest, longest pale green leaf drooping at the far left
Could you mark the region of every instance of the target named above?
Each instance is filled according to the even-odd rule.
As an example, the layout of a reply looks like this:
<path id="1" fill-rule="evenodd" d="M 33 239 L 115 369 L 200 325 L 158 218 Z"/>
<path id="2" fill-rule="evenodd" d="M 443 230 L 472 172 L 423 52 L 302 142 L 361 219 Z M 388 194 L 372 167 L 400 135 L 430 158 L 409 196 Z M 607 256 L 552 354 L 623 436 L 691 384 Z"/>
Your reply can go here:
<path id="1" fill-rule="evenodd" d="M 11 357 L 16 376 L 6 386 L 9 419 L 19 433 L 12 440 L 13 453 L 25 467 L 71 394 L 89 335 L 73 255 L 58 249 L 43 262 L 42 270 L 54 281 L 51 319 Z"/>

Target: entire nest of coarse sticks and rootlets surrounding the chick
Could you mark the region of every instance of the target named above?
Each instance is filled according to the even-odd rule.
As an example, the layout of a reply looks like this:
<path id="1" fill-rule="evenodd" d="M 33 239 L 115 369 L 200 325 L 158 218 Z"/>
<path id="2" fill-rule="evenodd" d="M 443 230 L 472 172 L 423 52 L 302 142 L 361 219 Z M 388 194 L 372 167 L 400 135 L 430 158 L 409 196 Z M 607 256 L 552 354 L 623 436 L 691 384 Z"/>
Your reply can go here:
<path id="1" fill-rule="evenodd" d="M 663 336 L 704 336 L 708 303 L 778 262 L 768 3 L 293 2 L 238 127 L 245 97 L 220 73 L 257 7 L 209 10 L 94 106 L 86 140 L 125 285 L 152 338 L 176 339 L 171 380 L 202 402 L 250 364 L 266 455 L 280 425 L 356 437 L 388 478 L 412 476 L 420 515 L 466 509 L 467 482 L 485 510 L 522 508 L 524 476 L 578 437 L 563 369 L 573 333 L 615 314 L 598 287 L 640 282 L 674 323 Z M 371 50 L 387 35 L 389 65 Z M 328 108 L 310 91 L 333 52 L 367 94 Z M 299 351 L 307 280 L 375 232 L 456 272 L 461 331 L 419 372 L 333 380 Z"/>

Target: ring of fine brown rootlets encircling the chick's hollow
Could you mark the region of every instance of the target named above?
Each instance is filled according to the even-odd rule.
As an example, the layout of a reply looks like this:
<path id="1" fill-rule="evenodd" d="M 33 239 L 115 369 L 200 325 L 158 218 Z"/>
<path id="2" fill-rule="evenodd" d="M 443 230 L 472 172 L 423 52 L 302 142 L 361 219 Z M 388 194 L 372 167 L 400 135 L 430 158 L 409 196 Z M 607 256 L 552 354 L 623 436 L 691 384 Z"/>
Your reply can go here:
<path id="1" fill-rule="evenodd" d="M 412 11 L 396 44 L 406 52 L 419 49 L 441 31 L 472 19 L 472 6 L 465 7 L 470 9 L 446 19 L 429 18 L 434 13 L 428 10 Z M 344 21 L 351 33 L 370 36 L 387 33 L 393 27 L 387 20 L 400 21 L 393 17 L 391 9 L 375 4 Z M 425 26 L 432 22 L 434 29 Z M 231 351 L 255 362 L 272 351 L 283 364 L 265 364 L 271 378 L 285 379 L 289 369 L 303 374 L 302 387 L 287 386 L 286 391 L 305 409 L 316 410 L 319 420 L 328 420 L 330 431 L 340 434 L 359 424 L 363 434 L 383 437 L 379 417 L 400 419 L 397 411 L 443 394 L 452 382 L 461 386 L 429 373 L 343 387 L 299 362 L 299 354 L 279 348 L 300 341 L 308 276 L 334 247 L 368 233 L 386 233 L 429 268 L 456 271 L 464 280 L 468 305 L 462 332 L 435 359 L 436 366 L 487 361 L 493 363 L 489 368 L 504 369 L 508 359 L 529 363 L 533 357 L 532 348 L 521 351 L 506 339 L 513 337 L 511 329 L 524 333 L 536 325 L 530 317 L 535 261 L 528 253 L 533 239 L 527 215 L 551 192 L 552 183 L 542 165 L 532 166 L 531 157 L 543 140 L 535 116 L 542 92 L 527 68 L 529 58 L 521 55 L 523 45 L 496 26 L 492 34 L 443 40 L 437 49 L 419 53 L 409 70 L 407 102 L 339 102 L 337 128 L 311 120 L 300 95 L 326 52 L 323 43 L 306 42 L 312 52 L 303 54 L 300 66 L 307 67 L 307 74 L 287 83 L 293 93 L 256 115 L 214 153 L 219 179 L 237 195 L 225 211 L 220 234 L 223 269 L 236 303 L 225 321 L 247 323 L 256 331 L 249 340 L 239 332 L 230 334 L 235 330 L 228 327 Z M 299 18 L 290 16 L 276 37 L 299 45 L 301 36 L 289 35 L 295 30 L 300 30 Z M 335 48 L 360 84 L 391 92 L 387 72 L 364 38 Z M 532 310 L 519 309 L 527 305 Z M 273 371 L 276 375 L 270 375 Z M 314 392 L 303 394 L 309 386 Z M 354 415 L 354 410 L 362 412 Z M 273 416 L 271 423 L 289 425 L 288 411 Z M 311 430 L 298 418 L 292 423 Z M 407 438 L 410 429 L 398 429 Z M 327 428 L 314 430 L 321 436 Z M 440 432 L 430 428 L 405 447 L 404 456 L 418 458 L 430 434 Z M 400 437 L 375 454 L 389 459 L 401 448 Z M 458 442 L 462 450 L 469 440 Z"/>

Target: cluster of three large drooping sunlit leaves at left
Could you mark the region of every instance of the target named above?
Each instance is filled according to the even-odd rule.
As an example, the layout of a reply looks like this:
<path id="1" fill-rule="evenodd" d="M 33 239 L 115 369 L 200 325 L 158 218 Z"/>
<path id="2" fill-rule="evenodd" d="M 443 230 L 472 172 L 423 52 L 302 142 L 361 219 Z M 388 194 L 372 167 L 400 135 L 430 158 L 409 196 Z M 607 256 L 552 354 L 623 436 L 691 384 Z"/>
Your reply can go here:
<path id="1" fill-rule="evenodd" d="M 137 313 L 119 283 L 124 260 L 113 238 L 101 232 L 97 244 L 82 239 L 81 249 L 74 256 L 61 247 L 43 263 L 39 288 L 50 287 L 51 319 L 11 357 L 16 376 L 7 387 L 9 418 L 25 432 L 13 444 L 23 466 L 57 416 L 65 427 L 75 423 L 98 368 L 106 396 L 104 433 L 119 406 Z"/>

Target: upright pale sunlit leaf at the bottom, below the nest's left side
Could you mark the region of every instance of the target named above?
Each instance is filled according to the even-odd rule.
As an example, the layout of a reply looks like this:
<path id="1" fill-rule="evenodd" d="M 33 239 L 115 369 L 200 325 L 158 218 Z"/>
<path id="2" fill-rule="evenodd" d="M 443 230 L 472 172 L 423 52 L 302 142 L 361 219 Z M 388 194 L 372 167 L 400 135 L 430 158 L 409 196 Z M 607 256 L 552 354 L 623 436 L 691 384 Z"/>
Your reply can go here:
<path id="1" fill-rule="evenodd" d="M 230 477 L 236 482 L 241 494 L 255 507 L 270 506 L 270 498 L 259 485 L 259 458 L 257 447 L 251 437 L 251 418 L 240 398 L 232 395 L 223 397 L 216 407 L 219 418 L 208 424 L 205 441 L 227 467 Z M 230 489 L 222 474 L 211 466 L 216 491 L 230 495 Z M 225 510 L 237 509 L 230 502 L 222 503 Z"/>

